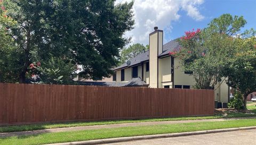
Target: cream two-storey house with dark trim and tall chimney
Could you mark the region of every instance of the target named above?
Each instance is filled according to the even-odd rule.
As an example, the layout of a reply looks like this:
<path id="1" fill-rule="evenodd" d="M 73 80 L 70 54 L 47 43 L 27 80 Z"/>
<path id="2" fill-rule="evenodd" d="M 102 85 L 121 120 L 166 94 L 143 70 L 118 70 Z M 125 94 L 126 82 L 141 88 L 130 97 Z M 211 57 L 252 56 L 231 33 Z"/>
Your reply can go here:
<path id="1" fill-rule="evenodd" d="M 193 88 L 195 80 L 189 75 L 191 72 L 182 72 L 179 59 L 169 54 L 179 50 L 180 47 L 176 40 L 163 45 L 163 30 L 155 27 L 155 31 L 149 34 L 149 51 L 114 68 L 116 75 L 113 76 L 113 80 L 129 82 L 132 78 L 140 77 L 151 88 Z M 228 85 L 219 82 L 215 88 L 217 88 L 215 100 L 227 103 L 229 101 Z"/>

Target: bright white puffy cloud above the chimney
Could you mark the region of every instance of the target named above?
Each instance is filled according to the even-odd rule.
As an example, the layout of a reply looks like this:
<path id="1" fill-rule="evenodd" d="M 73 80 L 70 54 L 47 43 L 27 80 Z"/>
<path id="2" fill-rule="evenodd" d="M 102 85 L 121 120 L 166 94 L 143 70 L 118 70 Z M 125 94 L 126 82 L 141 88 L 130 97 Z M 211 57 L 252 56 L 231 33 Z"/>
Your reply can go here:
<path id="1" fill-rule="evenodd" d="M 116 3 L 131 2 L 131 0 L 117 0 Z M 148 35 L 155 26 L 159 29 L 172 30 L 172 22 L 179 20 L 179 10 L 184 10 L 187 15 L 196 21 L 203 20 L 203 15 L 198 11 L 198 6 L 203 0 L 172 1 L 172 0 L 135 0 L 133 11 L 135 28 L 125 34 L 132 37 L 132 43 L 148 44 Z"/>

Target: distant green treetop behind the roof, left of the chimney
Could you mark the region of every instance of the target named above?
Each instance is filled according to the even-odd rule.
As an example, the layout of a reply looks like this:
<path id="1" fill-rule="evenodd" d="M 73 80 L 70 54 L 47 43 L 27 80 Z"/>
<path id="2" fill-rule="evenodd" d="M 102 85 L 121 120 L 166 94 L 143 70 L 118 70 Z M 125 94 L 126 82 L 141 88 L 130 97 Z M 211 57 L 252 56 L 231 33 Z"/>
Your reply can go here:
<path id="1" fill-rule="evenodd" d="M 121 51 L 120 64 L 122 65 L 127 60 L 131 60 L 136 57 L 138 54 L 141 54 L 144 51 L 148 51 L 149 47 L 145 47 L 143 44 L 135 43 Z"/>

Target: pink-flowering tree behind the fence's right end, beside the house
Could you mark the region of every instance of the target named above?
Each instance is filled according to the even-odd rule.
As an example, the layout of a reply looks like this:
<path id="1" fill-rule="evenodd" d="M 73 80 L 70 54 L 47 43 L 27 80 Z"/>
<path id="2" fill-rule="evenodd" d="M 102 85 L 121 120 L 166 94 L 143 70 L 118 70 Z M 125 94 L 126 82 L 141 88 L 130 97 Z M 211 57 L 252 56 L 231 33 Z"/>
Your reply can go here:
<path id="1" fill-rule="evenodd" d="M 222 81 L 222 66 L 233 54 L 233 38 L 210 33 L 209 29 L 192 29 L 185 32 L 179 43 L 181 48 L 169 54 L 179 58 L 181 69 L 195 78 L 194 87 L 216 88 L 217 83 Z"/>

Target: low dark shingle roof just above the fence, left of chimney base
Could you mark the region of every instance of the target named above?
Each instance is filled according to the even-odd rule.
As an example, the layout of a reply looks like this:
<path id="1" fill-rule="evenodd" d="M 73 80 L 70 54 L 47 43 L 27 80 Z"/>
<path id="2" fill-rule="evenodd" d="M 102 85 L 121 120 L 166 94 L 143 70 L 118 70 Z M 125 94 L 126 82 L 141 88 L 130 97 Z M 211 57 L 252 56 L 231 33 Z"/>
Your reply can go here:
<path id="1" fill-rule="evenodd" d="M 129 82 L 78 82 L 79 85 L 87 86 L 148 86 L 141 78 L 132 78 Z"/>

